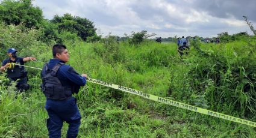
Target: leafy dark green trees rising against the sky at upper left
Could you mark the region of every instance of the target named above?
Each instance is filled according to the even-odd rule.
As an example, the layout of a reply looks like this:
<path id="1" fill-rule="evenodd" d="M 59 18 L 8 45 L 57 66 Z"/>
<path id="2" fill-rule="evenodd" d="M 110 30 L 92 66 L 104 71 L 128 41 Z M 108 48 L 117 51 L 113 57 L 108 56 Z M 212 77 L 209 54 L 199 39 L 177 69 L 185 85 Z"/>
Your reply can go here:
<path id="1" fill-rule="evenodd" d="M 61 32 L 71 32 L 84 41 L 99 40 L 92 21 L 86 18 L 64 14 L 53 19 L 43 18 L 43 11 L 32 4 L 32 0 L 4 0 L 0 3 L 0 22 L 5 25 L 23 25 L 24 28 L 41 29 L 41 40 L 55 40 L 62 43 L 58 36 Z"/>

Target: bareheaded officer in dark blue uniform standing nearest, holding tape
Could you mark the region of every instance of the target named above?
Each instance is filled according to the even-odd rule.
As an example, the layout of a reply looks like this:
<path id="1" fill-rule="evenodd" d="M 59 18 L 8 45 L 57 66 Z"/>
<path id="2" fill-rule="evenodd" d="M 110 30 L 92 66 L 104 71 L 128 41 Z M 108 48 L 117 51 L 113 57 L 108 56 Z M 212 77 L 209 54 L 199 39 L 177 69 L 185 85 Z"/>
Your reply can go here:
<path id="1" fill-rule="evenodd" d="M 67 137 L 76 137 L 80 127 L 81 115 L 72 94 L 78 93 L 80 86 L 86 85 L 86 74 L 78 74 L 66 65 L 69 53 L 63 44 L 52 47 L 53 59 L 44 65 L 42 91 L 46 96 L 45 109 L 48 112 L 47 128 L 49 137 L 61 137 L 63 122 L 69 124 Z"/>

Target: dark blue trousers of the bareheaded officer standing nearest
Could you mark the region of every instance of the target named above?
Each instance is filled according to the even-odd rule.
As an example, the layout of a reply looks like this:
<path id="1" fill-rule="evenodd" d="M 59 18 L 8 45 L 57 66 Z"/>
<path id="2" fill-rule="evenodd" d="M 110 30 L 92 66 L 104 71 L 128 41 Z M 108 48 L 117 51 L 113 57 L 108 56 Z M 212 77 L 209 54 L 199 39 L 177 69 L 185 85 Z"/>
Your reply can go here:
<path id="1" fill-rule="evenodd" d="M 81 124 L 81 115 L 73 97 L 66 100 L 46 100 L 45 109 L 48 112 L 47 128 L 49 137 L 61 137 L 63 121 L 69 124 L 67 137 L 76 137 Z"/>

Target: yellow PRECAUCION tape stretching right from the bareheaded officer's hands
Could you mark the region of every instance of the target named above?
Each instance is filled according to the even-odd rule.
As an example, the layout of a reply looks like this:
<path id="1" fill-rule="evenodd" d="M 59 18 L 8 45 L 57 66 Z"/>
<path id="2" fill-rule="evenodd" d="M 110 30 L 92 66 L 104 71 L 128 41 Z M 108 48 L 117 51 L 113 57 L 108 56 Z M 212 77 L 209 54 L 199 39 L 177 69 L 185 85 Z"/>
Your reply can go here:
<path id="1" fill-rule="evenodd" d="M 115 85 L 115 84 L 111 84 L 111 83 L 107 83 L 107 82 L 103 82 L 101 80 L 96 80 L 96 79 L 91 79 L 91 78 L 87 78 L 87 81 L 92 82 L 92 83 L 96 83 L 96 84 L 99 84 L 99 85 L 107 86 L 107 87 L 110 87 L 110 88 L 119 89 L 120 91 L 129 92 L 130 94 L 139 95 L 139 96 L 141 96 L 143 98 L 146 98 L 146 99 L 149 99 L 149 100 L 158 101 L 160 103 L 169 104 L 171 106 L 176 106 L 176 107 L 179 107 L 179 108 L 182 108 L 182 109 L 192 110 L 193 112 L 202 113 L 202 114 L 205 114 L 205 115 L 210 115 L 210 116 L 214 116 L 214 117 L 221 118 L 221 119 L 226 119 L 228 121 L 238 122 L 240 124 L 249 125 L 251 127 L 256 127 L 256 123 L 252 122 L 252 121 L 248 121 L 248 120 L 241 119 L 241 118 L 236 118 L 234 116 L 225 115 L 223 113 L 218 113 L 218 112 L 214 112 L 214 111 L 207 110 L 207 109 L 202 109 L 200 107 L 191 106 L 189 104 L 184 104 L 184 103 L 181 103 L 181 102 L 178 102 L 178 101 L 169 100 L 169 99 L 166 99 L 166 98 L 163 98 L 163 97 L 158 97 L 158 96 L 155 96 L 155 95 L 146 94 L 142 91 L 127 88 L 125 86 L 119 86 L 119 85 Z"/>

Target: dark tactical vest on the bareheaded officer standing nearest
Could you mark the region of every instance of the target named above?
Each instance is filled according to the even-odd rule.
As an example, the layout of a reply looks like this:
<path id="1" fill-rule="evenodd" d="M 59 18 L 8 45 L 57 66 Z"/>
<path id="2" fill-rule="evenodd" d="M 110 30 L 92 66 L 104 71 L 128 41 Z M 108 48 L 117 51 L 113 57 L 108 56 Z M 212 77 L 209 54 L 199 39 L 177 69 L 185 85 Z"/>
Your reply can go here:
<path id="1" fill-rule="evenodd" d="M 64 64 L 59 62 L 54 66 L 54 68 L 52 68 L 52 70 L 49 70 L 48 64 L 45 64 L 43 67 L 42 72 L 45 73 L 45 76 L 42 76 L 43 84 L 41 85 L 41 88 L 46 98 L 53 100 L 65 100 L 72 95 L 72 87 L 62 86 L 60 80 L 56 76 L 61 65 Z"/>

